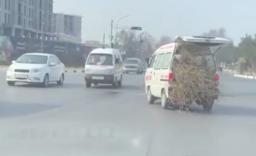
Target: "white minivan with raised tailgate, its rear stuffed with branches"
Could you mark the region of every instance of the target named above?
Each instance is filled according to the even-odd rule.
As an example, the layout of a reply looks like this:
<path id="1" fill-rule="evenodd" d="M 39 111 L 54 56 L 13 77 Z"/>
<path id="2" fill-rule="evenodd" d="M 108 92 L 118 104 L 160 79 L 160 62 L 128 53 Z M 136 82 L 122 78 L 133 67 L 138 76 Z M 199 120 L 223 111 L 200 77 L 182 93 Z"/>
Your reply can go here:
<path id="1" fill-rule="evenodd" d="M 166 44 L 158 48 L 151 56 L 151 60 L 147 60 L 148 67 L 145 74 L 145 91 L 147 93 L 147 100 L 149 104 L 153 104 L 155 100 L 161 99 L 161 106 L 164 109 L 172 107 L 174 105 L 169 102 L 170 91 L 172 91 L 172 79 L 174 74 L 172 73 L 172 65 L 174 58 L 178 57 L 178 49 L 180 47 L 189 47 L 190 51 L 203 49 L 205 54 L 204 58 L 207 59 L 209 65 L 216 71 L 214 54 L 211 46 L 220 46 L 222 44 L 228 44 L 230 40 L 224 38 L 208 38 L 202 36 L 178 36 L 174 43 Z M 216 84 L 218 85 L 219 76 L 215 75 Z M 211 104 L 203 105 L 205 112 L 209 112 L 213 106 L 214 100 L 218 98 L 219 89 L 216 86 L 217 95 L 212 97 Z"/>

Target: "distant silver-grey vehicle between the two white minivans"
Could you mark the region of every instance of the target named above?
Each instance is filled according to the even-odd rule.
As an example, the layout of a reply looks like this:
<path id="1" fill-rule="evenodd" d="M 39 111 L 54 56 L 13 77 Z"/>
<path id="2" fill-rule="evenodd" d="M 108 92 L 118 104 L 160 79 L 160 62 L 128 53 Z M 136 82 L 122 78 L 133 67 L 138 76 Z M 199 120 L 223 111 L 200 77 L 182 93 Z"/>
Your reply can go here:
<path id="1" fill-rule="evenodd" d="M 139 58 L 127 58 L 124 61 L 124 72 L 143 74 L 143 62 Z"/>

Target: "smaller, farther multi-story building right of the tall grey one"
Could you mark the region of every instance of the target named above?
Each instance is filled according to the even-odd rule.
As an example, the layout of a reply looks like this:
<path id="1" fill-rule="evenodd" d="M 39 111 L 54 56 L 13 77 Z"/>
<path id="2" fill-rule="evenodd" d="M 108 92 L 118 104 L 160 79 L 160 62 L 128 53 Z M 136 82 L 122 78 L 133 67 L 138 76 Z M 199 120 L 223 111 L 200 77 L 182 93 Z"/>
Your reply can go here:
<path id="1" fill-rule="evenodd" d="M 82 17 L 65 13 L 53 14 L 53 32 L 59 40 L 82 42 Z"/>

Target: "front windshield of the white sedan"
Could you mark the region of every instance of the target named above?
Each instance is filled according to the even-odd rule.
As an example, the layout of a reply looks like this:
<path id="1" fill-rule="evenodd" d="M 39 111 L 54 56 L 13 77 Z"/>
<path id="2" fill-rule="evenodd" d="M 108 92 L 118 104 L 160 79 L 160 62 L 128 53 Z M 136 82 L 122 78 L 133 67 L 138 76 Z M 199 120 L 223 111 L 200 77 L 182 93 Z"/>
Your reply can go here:
<path id="1" fill-rule="evenodd" d="M 47 59 L 48 56 L 24 54 L 16 60 L 16 63 L 47 64 Z"/>

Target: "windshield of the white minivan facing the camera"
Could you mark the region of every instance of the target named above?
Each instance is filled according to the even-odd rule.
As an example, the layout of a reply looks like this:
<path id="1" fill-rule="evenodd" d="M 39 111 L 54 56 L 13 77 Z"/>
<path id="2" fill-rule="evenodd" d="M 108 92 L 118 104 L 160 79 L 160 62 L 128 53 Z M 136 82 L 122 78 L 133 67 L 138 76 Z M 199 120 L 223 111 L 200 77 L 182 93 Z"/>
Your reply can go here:
<path id="1" fill-rule="evenodd" d="M 113 56 L 111 54 L 90 54 L 86 65 L 113 66 Z"/>

